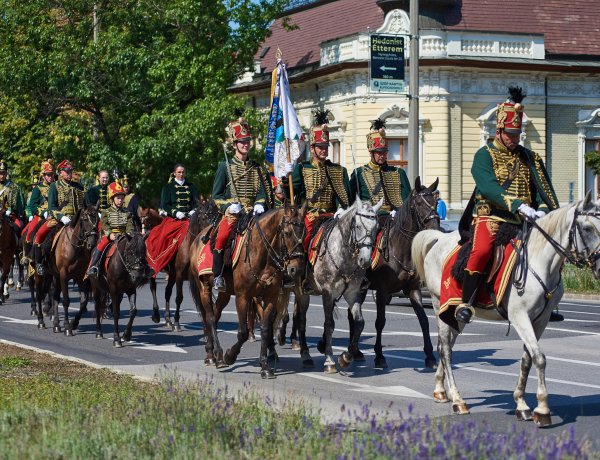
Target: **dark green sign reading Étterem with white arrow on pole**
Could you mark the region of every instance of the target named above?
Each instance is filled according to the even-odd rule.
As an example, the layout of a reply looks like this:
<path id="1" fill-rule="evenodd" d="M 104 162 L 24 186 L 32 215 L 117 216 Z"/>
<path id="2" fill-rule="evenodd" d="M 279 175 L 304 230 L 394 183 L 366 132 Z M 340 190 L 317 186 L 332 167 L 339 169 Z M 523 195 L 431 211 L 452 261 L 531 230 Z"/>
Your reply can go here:
<path id="1" fill-rule="evenodd" d="M 404 92 L 404 38 L 371 35 L 371 91 Z"/>

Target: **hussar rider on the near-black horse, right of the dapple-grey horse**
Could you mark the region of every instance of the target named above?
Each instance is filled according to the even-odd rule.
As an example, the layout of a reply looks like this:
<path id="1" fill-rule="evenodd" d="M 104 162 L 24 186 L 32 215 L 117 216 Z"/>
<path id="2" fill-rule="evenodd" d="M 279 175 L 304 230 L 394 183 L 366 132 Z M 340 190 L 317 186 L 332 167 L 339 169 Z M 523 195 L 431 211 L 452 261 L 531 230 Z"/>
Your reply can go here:
<path id="1" fill-rule="evenodd" d="M 388 216 L 393 218 L 396 210 L 410 195 L 411 186 L 404 169 L 388 164 L 385 124 L 379 118 L 371 123 L 371 131 L 367 134 L 367 148 L 371 161 L 352 173 L 350 196 L 355 199 L 358 195 L 362 201 L 373 206 L 383 199 L 383 205 L 377 214 L 383 219 Z"/>

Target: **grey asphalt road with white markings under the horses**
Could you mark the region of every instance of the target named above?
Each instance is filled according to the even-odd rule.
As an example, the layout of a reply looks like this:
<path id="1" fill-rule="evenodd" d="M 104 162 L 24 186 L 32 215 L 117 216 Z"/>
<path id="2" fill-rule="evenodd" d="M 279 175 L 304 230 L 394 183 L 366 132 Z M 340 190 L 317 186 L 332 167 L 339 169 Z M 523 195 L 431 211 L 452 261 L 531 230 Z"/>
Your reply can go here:
<path id="1" fill-rule="evenodd" d="M 159 299 L 164 297 L 165 283 L 162 275 L 158 283 Z M 388 307 L 384 330 L 384 353 L 389 368 L 385 371 L 373 368 L 372 346 L 375 342 L 375 305 L 371 296 L 363 306 L 366 320 L 361 339 L 361 349 L 366 362 L 354 363 L 338 374 L 323 373 L 324 357 L 316 350 L 316 343 L 323 332 L 323 312 L 319 297 L 312 297 L 307 336 L 314 369 L 303 369 L 298 352 L 290 344 L 277 347 L 279 363 L 277 378 L 262 380 L 258 366 L 260 341 L 244 345 L 238 361 L 231 367 L 217 370 L 203 363 L 204 341 L 202 324 L 188 292 L 184 287 L 182 306 L 182 332 L 175 333 L 164 323 L 151 321 L 151 296 L 147 287 L 138 294 L 138 317 L 133 340 L 124 348 L 112 346 L 112 320 L 104 321 L 105 339 L 95 338 L 95 323 L 87 313 L 74 337 L 54 334 L 51 322 L 48 329 L 39 330 L 37 320 L 30 316 L 29 293 L 15 292 L 0 306 L 0 340 L 18 343 L 63 356 L 77 358 L 100 367 L 153 378 L 157 375 L 177 373 L 188 379 L 211 379 L 227 385 L 233 394 L 255 391 L 268 396 L 275 403 L 302 401 L 321 411 L 327 421 L 353 418 L 365 406 L 380 417 L 397 418 L 399 413 L 446 417 L 456 421 L 485 420 L 499 432 L 518 430 L 538 432 L 531 422 L 516 422 L 512 392 L 516 385 L 522 343 L 514 329 L 506 323 L 475 321 L 459 337 L 455 347 L 455 377 L 471 414 L 451 414 L 450 404 L 436 404 L 432 393 L 433 371 L 424 369 L 422 339 L 417 319 L 404 299 L 394 298 Z M 71 314 L 78 304 L 77 294 L 72 293 Z M 160 301 L 161 307 L 164 301 Z M 174 303 L 174 302 L 173 302 Z M 121 330 L 127 320 L 126 301 Z M 546 377 L 550 392 L 553 426 L 543 430 L 547 433 L 562 432 L 574 428 L 578 438 L 589 439 L 600 448 L 600 303 L 586 301 L 563 301 L 561 312 L 566 320 L 550 323 L 542 337 L 542 350 L 546 354 Z M 90 304 L 93 309 L 93 303 Z M 291 306 L 290 306 L 291 309 Z M 161 315 L 164 313 L 161 310 Z M 427 309 L 436 345 L 436 329 L 433 310 Z M 224 311 L 220 338 L 224 349 L 234 341 L 237 332 L 237 315 L 233 302 Z M 288 327 L 289 331 L 289 327 Z M 289 333 L 289 332 L 288 332 Z M 260 340 L 260 331 L 256 331 Z M 348 323 L 346 305 L 339 305 L 334 336 L 334 352 L 347 347 Z M 527 401 L 533 409 L 536 405 L 535 372 L 529 378 Z"/>

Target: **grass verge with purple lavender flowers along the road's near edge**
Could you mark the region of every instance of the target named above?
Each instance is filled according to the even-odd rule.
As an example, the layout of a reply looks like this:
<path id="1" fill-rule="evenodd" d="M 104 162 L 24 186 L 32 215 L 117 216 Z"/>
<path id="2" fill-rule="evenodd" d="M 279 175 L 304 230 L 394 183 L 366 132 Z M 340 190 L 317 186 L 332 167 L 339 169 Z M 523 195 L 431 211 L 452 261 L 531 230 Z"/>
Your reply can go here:
<path id="1" fill-rule="evenodd" d="M 275 410 L 211 381 L 129 376 L 0 344 L 0 458 L 591 458 L 573 432 L 496 434 L 469 422 L 369 407 L 352 423 L 324 425 L 293 401 Z"/>

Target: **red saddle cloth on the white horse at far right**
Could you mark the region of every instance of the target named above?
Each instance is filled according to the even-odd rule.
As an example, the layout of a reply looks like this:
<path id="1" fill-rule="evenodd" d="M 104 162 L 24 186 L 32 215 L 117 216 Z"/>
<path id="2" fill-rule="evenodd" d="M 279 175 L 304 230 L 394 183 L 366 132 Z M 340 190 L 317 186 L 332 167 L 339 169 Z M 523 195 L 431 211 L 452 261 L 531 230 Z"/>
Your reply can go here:
<path id="1" fill-rule="evenodd" d="M 521 245 L 521 241 L 513 240 L 517 245 Z M 454 279 L 451 274 L 454 262 L 458 257 L 460 246 L 456 246 L 446 257 L 442 267 L 442 286 L 440 289 L 440 318 L 446 324 L 458 329 L 456 319 L 454 318 L 454 307 L 462 302 L 462 284 Z M 506 288 L 510 284 L 510 277 L 515 266 L 517 254 L 512 244 L 507 244 L 504 248 L 504 258 L 500 268 L 490 281 L 488 286 L 482 286 L 477 293 L 475 307 L 484 309 L 494 309 L 496 305 L 502 301 Z M 496 302 L 490 295 L 489 287 L 493 286 L 493 293 Z"/>

